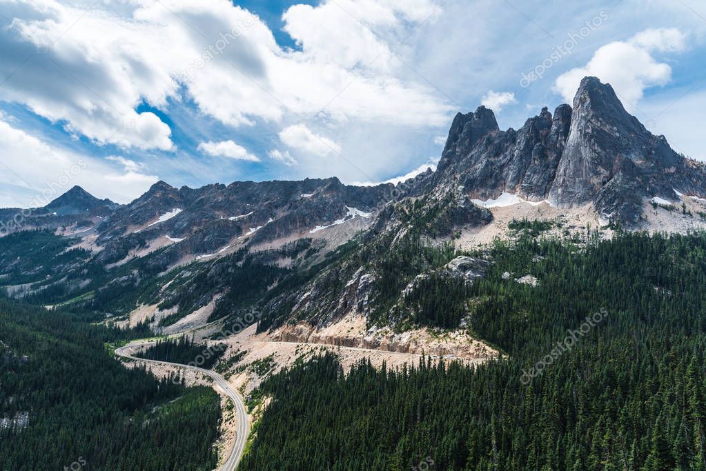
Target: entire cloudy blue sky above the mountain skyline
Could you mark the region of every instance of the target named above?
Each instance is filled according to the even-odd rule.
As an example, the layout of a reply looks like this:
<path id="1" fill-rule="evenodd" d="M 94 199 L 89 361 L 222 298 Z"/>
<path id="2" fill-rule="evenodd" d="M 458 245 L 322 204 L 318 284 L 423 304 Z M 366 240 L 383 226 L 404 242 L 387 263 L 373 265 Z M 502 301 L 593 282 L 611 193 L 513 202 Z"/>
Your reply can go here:
<path id="1" fill-rule="evenodd" d="M 695 0 L 0 0 L 0 23 L 0 206 L 387 181 L 433 166 L 457 111 L 519 128 L 582 75 L 706 160 Z"/>

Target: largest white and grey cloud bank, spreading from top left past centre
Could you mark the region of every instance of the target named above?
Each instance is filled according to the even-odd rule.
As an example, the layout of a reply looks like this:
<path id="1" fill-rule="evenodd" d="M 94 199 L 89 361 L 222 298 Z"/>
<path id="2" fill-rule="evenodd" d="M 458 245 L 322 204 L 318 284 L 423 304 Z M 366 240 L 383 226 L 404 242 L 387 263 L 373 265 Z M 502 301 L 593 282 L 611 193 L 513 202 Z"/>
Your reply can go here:
<path id="1" fill-rule="evenodd" d="M 99 145 L 139 149 L 174 146 L 169 126 L 140 104 L 164 109 L 184 95 L 229 126 L 324 107 L 338 121 L 439 124 L 448 105 L 402 79 L 387 44 L 434 11 L 431 0 L 295 5 L 283 17 L 301 46 L 293 50 L 227 0 L 11 2 L 0 17 L 0 99 Z"/>

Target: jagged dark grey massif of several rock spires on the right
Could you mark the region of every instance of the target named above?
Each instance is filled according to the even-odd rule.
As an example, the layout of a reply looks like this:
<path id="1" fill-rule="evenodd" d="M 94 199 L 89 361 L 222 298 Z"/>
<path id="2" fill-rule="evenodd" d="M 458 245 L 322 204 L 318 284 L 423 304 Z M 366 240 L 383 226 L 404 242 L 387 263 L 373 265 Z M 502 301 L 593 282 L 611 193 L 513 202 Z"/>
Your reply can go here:
<path id="1" fill-rule="evenodd" d="M 544 108 L 520 130 L 498 130 L 484 106 L 458 114 L 431 185 L 463 185 L 481 200 L 508 192 L 563 208 L 590 203 L 604 220 L 638 226 L 654 197 L 706 195 L 706 169 L 645 129 L 610 85 L 587 77 L 573 107 Z"/>

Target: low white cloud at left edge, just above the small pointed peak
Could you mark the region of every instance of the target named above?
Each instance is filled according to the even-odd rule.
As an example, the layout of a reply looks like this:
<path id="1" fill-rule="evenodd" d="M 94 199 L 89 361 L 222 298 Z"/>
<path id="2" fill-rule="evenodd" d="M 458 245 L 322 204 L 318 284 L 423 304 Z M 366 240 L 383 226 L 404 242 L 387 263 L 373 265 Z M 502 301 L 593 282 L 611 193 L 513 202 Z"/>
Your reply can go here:
<path id="1" fill-rule="evenodd" d="M 157 176 L 140 172 L 140 165 L 123 157 L 101 159 L 49 145 L 37 137 L 0 121 L 0 207 L 37 207 L 80 185 L 96 197 L 129 202 L 141 195 Z M 13 188 L 11 191 L 3 191 Z"/>

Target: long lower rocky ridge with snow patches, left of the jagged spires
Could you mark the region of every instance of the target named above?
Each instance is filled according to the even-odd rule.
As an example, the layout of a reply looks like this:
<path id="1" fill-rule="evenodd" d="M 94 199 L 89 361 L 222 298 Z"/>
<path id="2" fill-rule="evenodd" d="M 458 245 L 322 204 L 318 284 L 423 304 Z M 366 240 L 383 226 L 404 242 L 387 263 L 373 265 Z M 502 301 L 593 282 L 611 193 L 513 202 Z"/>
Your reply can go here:
<path id="1" fill-rule="evenodd" d="M 343 185 L 337 178 L 197 189 L 160 181 L 104 219 L 95 243 L 106 263 L 169 245 L 161 255 L 167 265 L 297 238 L 333 240 L 335 247 L 372 224 L 373 211 L 394 189 Z"/>

